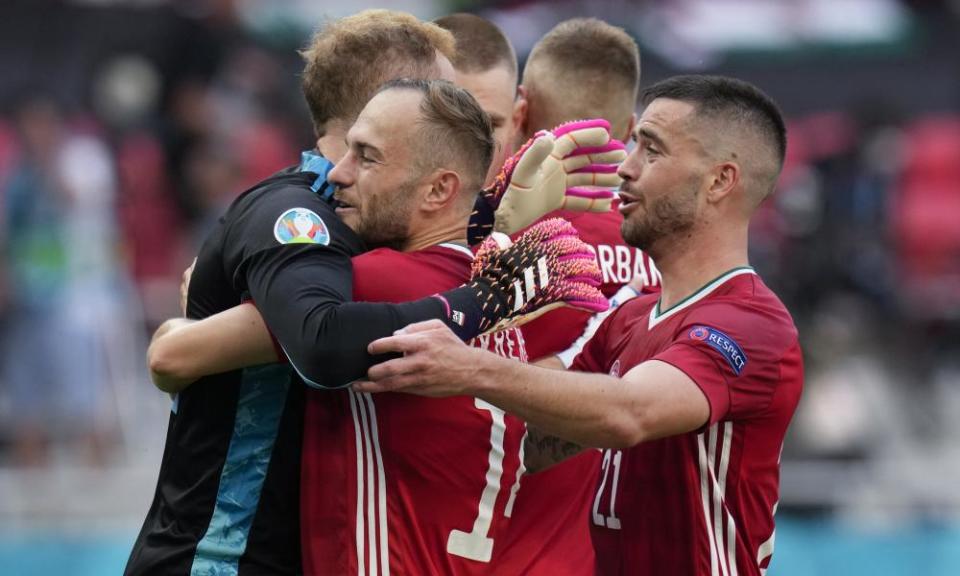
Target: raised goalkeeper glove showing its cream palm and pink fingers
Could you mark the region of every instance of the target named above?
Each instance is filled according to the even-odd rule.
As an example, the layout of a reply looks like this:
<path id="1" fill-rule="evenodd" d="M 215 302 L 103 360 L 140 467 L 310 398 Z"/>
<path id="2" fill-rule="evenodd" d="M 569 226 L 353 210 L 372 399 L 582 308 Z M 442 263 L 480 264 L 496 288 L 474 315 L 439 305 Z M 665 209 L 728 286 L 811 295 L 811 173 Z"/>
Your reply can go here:
<path id="1" fill-rule="evenodd" d="M 514 234 L 558 209 L 606 212 L 617 167 L 626 158 L 606 120 L 580 120 L 541 132 L 506 163 L 485 198 L 494 230 Z"/>

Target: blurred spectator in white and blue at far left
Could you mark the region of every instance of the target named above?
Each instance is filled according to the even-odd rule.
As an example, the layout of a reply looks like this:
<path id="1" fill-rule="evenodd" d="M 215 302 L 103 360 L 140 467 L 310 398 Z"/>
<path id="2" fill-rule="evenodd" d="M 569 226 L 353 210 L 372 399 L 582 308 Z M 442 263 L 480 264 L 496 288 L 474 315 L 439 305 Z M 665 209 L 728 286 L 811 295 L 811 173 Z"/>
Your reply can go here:
<path id="1" fill-rule="evenodd" d="M 46 461 L 51 442 L 101 462 L 112 422 L 102 412 L 107 367 L 114 194 L 103 143 L 71 132 L 50 100 L 17 113 L 20 155 L 5 186 L 9 321 L 3 381 L 13 457 Z"/>

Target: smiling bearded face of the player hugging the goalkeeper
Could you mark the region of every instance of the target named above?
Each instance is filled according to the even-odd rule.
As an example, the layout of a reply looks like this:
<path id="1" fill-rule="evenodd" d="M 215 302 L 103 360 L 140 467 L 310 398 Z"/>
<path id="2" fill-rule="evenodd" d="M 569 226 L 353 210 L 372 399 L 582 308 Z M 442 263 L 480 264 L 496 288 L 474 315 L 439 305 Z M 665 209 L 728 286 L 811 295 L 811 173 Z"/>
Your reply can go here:
<path id="1" fill-rule="evenodd" d="M 337 189 L 337 215 L 370 247 L 401 247 L 420 175 L 410 143 L 415 142 L 421 95 L 388 90 L 373 97 L 347 132 L 347 154 L 329 179 Z"/>

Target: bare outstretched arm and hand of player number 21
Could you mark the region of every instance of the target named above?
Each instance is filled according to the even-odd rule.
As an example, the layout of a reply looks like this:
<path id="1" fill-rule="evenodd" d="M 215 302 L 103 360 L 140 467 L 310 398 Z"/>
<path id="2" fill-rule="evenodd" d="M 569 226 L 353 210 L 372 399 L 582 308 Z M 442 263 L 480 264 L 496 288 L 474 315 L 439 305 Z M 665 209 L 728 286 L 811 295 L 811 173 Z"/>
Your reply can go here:
<path id="1" fill-rule="evenodd" d="M 357 385 L 359 391 L 476 396 L 581 446 L 633 446 L 696 430 L 710 417 L 710 403 L 697 384 L 658 360 L 621 378 L 548 370 L 462 346 L 430 323 L 370 347 L 403 356 L 371 368 L 372 382 Z"/>

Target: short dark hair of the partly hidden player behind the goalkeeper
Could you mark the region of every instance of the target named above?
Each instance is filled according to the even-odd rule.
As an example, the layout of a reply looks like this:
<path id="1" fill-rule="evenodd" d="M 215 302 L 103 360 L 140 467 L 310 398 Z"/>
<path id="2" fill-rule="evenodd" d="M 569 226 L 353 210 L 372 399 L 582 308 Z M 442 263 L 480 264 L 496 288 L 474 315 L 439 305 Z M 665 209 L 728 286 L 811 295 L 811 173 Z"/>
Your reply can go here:
<path id="1" fill-rule="evenodd" d="M 517 73 L 517 54 L 500 28 L 486 18 L 458 12 L 433 21 L 453 34 L 457 52 L 453 67 L 468 74 L 486 72 L 505 65 L 511 74 Z"/>

